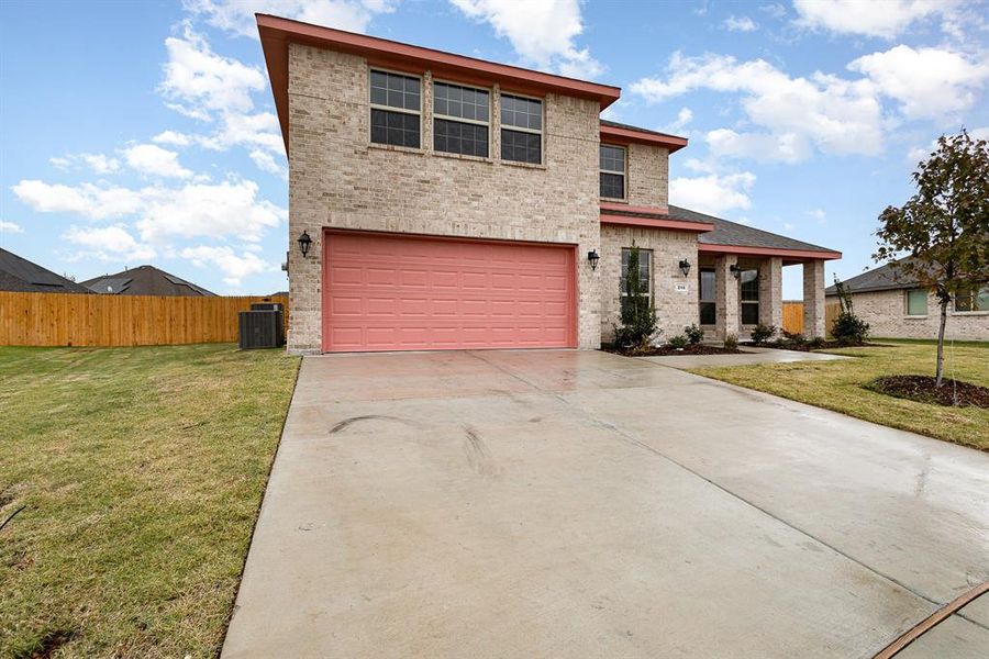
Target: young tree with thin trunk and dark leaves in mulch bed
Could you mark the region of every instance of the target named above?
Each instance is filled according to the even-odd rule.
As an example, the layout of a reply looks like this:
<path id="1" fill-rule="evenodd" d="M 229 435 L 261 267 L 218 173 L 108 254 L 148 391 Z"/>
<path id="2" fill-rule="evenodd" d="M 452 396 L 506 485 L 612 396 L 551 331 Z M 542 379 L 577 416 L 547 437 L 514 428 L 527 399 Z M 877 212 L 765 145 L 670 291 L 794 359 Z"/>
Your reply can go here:
<path id="1" fill-rule="evenodd" d="M 989 143 L 968 132 L 937 139 L 937 149 L 913 172 L 916 193 L 879 215 L 873 258 L 896 261 L 898 271 L 934 289 L 941 306 L 936 386 L 944 370 L 947 306 L 989 281 Z"/>

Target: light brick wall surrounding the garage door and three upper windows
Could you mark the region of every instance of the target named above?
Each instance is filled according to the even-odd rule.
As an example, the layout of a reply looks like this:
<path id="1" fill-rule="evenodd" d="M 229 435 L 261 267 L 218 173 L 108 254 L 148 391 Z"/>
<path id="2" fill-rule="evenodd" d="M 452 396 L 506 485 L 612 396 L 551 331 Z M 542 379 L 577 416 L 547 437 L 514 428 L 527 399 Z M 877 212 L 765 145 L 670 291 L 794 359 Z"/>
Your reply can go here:
<path id="1" fill-rule="evenodd" d="M 566 243 L 579 255 L 599 247 L 598 103 L 545 97 L 542 166 L 501 161 L 498 131 L 489 158 L 440 154 L 424 78 L 422 148 L 371 145 L 367 62 L 289 45 L 289 236 L 313 238 L 308 257 L 289 255 L 290 350 L 321 349 L 323 227 Z M 498 96 L 496 87 L 496 109 Z M 584 258 L 577 289 L 578 345 L 597 348 L 599 278 Z"/>

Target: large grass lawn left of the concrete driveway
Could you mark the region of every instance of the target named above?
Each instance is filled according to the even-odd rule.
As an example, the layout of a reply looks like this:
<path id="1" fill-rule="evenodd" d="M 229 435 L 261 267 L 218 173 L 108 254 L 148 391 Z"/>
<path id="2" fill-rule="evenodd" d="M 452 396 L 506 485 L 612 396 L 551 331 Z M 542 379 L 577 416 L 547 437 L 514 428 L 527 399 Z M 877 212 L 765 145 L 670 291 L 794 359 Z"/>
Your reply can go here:
<path id="1" fill-rule="evenodd" d="M 0 348 L 0 657 L 215 656 L 298 367 Z"/>

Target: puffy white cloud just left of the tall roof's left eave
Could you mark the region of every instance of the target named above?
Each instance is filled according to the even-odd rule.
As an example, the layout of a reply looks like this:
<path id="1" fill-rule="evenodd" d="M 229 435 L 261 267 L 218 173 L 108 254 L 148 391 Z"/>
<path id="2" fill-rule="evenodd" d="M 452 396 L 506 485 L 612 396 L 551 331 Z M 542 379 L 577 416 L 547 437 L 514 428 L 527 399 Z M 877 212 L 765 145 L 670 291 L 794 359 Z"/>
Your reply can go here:
<path id="1" fill-rule="evenodd" d="M 265 75 L 254 66 L 216 55 L 205 38 L 187 24 L 181 37 L 165 40 L 168 62 L 160 92 L 168 107 L 203 121 L 215 112 L 247 112 L 251 93 L 265 89 Z"/>

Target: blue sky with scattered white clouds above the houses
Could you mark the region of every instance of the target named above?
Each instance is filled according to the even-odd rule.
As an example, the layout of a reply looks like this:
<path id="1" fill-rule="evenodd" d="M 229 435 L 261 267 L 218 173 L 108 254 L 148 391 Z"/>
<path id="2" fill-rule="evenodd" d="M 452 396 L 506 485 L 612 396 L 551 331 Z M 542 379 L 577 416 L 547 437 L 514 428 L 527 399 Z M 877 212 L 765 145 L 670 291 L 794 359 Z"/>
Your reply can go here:
<path id="1" fill-rule="evenodd" d="M 873 265 L 877 215 L 938 135 L 989 137 L 985 2 L 8 0 L 0 245 L 79 280 L 152 263 L 286 289 L 254 11 L 619 85 L 607 116 L 690 138 L 670 203 L 840 249 L 829 282 Z"/>

